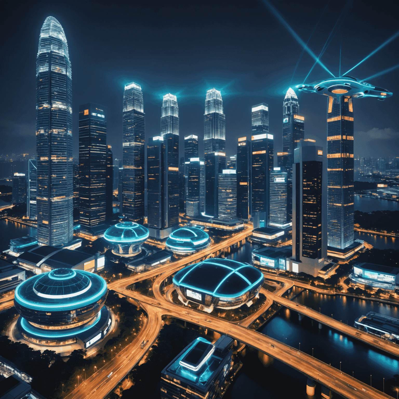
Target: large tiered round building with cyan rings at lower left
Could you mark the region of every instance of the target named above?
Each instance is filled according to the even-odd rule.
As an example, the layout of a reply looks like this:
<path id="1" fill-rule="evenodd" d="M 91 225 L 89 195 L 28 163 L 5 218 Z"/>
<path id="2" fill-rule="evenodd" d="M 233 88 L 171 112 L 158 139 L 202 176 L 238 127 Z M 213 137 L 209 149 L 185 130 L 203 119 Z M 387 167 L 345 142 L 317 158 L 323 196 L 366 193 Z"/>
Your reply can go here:
<path id="1" fill-rule="evenodd" d="M 77 342 L 86 349 L 111 328 L 107 294 L 105 280 L 83 270 L 61 268 L 31 277 L 15 290 L 18 332 L 35 344 Z"/>

